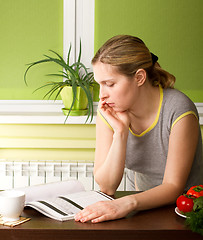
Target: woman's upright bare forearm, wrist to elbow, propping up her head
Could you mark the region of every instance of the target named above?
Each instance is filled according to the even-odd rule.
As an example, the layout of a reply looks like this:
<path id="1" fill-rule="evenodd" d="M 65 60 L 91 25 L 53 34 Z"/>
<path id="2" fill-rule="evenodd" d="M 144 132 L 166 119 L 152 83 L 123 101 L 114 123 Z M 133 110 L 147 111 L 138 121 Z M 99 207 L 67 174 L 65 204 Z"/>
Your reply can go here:
<path id="1" fill-rule="evenodd" d="M 113 141 L 103 164 L 94 169 L 100 190 L 113 195 L 120 184 L 125 167 L 128 133 L 114 133 Z"/>

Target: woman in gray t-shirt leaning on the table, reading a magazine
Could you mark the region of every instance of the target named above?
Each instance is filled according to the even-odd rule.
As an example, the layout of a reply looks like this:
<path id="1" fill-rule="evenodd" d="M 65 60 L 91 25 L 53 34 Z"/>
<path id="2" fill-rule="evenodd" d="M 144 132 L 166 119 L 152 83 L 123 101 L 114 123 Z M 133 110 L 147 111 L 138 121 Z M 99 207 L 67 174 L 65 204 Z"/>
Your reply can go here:
<path id="1" fill-rule="evenodd" d="M 124 168 L 141 193 L 91 205 L 75 216 L 93 223 L 174 203 L 202 183 L 202 138 L 195 105 L 139 38 L 108 40 L 92 60 L 100 85 L 94 176 L 113 195 Z"/>

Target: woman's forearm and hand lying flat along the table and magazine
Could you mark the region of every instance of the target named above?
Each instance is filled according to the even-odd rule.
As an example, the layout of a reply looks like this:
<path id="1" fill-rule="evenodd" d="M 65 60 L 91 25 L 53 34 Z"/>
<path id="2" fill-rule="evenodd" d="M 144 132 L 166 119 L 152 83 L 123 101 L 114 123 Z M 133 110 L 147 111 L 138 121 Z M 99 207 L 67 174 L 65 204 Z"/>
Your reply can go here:
<path id="1" fill-rule="evenodd" d="M 88 206 L 75 217 L 76 221 L 93 223 L 118 219 L 136 210 L 146 210 L 173 203 L 180 188 L 175 184 L 164 183 L 148 191 L 117 198 L 113 201 L 102 201 Z"/>

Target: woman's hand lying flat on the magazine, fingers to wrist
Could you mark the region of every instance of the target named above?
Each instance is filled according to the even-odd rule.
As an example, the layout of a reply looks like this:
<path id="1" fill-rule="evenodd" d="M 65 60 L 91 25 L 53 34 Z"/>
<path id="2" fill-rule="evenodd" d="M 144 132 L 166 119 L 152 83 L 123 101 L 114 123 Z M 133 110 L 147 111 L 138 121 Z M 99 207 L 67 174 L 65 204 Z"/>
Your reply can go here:
<path id="1" fill-rule="evenodd" d="M 125 217 L 133 211 L 135 203 L 131 196 L 112 201 L 101 201 L 92 204 L 75 215 L 75 221 L 98 223 Z"/>

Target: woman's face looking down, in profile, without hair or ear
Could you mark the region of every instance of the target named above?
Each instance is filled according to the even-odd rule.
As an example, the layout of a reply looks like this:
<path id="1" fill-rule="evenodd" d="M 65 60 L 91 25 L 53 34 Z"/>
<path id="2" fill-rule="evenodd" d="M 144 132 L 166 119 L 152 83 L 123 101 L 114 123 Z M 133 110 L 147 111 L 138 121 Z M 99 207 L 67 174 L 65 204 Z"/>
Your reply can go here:
<path id="1" fill-rule="evenodd" d="M 97 62 L 93 65 L 94 78 L 100 85 L 99 98 L 115 111 L 123 112 L 133 107 L 136 101 L 137 82 L 116 71 L 110 64 Z"/>

